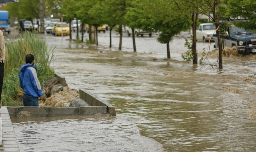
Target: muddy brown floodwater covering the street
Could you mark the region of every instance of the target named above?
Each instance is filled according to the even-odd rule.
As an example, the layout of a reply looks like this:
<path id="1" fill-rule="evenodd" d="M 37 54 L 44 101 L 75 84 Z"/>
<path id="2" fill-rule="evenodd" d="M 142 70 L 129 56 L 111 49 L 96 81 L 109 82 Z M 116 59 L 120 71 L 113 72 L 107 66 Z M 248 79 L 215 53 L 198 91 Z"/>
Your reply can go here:
<path id="1" fill-rule="evenodd" d="M 183 61 L 183 37 L 170 43 L 172 59 L 167 60 L 166 45 L 156 41 L 157 35 L 136 37 L 137 53 L 131 37 L 123 37 L 123 50 L 117 51 L 118 36 L 111 49 L 108 31 L 99 34 L 98 48 L 70 43 L 69 37 L 46 37 L 49 46 L 56 46 L 55 72 L 70 88 L 108 101 L 117 116 L 14 120 L 21 151 L 256 149 L 256 120 L 248 119 L 256 99 L 255 57 L 223 58 L 223 71 L 218 71 Z M 199 55 L 207 47 L 199 42 Z"/>

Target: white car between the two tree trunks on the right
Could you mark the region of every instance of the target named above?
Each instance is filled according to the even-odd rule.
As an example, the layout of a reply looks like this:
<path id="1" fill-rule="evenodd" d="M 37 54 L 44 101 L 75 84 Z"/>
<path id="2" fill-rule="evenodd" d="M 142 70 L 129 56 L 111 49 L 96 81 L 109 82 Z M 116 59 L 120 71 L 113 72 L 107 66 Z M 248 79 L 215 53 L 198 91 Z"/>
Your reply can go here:
<path id="1" fill-rule="evenodd" d="M 214 41 L 212 36 L 216 33 L 216 27 L 213 23 L 202 23 L 197 28 L 197 40 Z"/>

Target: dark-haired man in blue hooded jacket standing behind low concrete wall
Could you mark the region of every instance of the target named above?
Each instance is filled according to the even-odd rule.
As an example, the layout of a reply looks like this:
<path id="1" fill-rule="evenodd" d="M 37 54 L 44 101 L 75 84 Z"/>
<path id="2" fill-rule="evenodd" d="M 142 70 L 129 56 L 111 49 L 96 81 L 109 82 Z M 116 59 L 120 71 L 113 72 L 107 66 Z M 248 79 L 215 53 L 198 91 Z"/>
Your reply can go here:
<path id="1" fill-rule="evenodd" d="M 38 106 L 38 98 L 43 98 L 43 92 L 34 67 L 34 56 L 26 55 L 26 64 L 21 66 L 19 72 L 20 87 L 24 90 L 23 104 L 24 106 Z"/>

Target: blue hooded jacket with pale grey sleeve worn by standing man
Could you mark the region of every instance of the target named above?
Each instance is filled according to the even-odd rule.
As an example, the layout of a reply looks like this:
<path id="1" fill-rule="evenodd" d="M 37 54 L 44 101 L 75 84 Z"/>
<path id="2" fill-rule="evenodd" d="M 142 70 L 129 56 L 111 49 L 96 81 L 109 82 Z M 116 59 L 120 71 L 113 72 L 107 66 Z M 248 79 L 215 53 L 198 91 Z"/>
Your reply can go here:
<path id="1" fill-rule="evenodd" d="M 24 90 L 24 94 L 42 97 L 43 92 L 36 71 L 36 67 L 29 63 L 22 65 L 19 72 L 19 84 Z"/>

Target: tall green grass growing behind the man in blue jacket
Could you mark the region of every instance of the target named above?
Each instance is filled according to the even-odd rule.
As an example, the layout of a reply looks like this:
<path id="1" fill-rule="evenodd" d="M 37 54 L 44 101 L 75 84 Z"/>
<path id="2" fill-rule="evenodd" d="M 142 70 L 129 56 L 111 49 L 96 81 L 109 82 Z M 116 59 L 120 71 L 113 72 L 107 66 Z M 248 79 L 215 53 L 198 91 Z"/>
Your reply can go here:
<path id="1" fill-rule="evenodd" d="M 20 35 L 18 39 L 5 43 L 5 76 L 2 90 L 3 106 L 19 106 L 22 103 L 23 90 L 19 86 L 19 70 L 25 64 L 27 54 L 35 56 L 35 67 L 37 68 L 38 79 L 43 86 L 44 82 L 54 77 L 55 73 L 50 68 L 53 50 L 48 50 L 44 39 L 35 37 L 30 32 Z"/>

